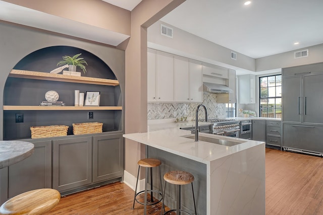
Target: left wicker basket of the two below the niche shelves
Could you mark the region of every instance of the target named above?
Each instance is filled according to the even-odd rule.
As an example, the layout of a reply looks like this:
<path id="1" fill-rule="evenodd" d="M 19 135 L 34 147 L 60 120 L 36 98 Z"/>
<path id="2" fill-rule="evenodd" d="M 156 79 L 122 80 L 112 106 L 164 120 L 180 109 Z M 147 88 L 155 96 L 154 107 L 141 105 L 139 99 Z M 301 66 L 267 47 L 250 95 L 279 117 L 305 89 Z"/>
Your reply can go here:
<path id="1" fill-rule="evenodd" d="M 66 125 L 31 126 L 31 138 L 66 136 L 68 128 Z"/>

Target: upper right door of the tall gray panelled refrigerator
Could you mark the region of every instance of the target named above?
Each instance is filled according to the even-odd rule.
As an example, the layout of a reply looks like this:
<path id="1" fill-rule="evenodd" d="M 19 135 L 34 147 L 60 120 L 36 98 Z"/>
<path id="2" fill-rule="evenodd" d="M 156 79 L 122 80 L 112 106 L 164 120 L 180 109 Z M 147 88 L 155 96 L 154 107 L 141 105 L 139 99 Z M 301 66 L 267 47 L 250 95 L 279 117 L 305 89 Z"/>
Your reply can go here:
<path id="1" fill-rule="evenodd" d="M 323 74 L 303 77 L 303 122 L 323 124 Z"/>

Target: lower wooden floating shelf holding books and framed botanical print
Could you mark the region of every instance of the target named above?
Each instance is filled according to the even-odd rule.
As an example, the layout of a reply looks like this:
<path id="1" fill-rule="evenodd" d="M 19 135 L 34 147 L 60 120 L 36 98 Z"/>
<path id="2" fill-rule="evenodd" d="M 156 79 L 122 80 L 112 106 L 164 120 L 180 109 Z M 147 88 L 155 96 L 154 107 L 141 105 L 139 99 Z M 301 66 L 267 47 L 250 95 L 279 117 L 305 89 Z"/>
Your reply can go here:
<path id="1" fill-rule="evenodd" d="M 122 110 L 122 106 L 12 106 L 4 105 L 4 110 Z"/>

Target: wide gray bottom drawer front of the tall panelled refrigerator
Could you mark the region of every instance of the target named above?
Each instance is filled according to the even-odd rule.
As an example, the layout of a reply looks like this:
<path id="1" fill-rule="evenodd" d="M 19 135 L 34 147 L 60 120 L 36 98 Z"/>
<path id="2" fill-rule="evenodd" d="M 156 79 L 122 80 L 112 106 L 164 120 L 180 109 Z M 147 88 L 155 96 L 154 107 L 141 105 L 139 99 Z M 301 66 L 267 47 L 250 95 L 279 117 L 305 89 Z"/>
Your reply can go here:
<path id="1" fill-rule="evenodd" d="M 323 126 L 283 123 L 283 147 L 323 153 Z"/>

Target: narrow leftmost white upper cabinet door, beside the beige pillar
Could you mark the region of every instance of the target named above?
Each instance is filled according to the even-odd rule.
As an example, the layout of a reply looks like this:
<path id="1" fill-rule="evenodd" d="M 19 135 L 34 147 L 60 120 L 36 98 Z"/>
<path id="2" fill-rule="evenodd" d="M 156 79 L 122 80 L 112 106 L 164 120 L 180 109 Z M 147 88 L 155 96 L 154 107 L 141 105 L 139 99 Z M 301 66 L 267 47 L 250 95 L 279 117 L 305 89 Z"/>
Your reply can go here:
<path id="1" fill-rule="evenodd" d="M 156 51 L 149 49 L 147 52 L 147 100 L 157 101 L 156 95 Z"/>

